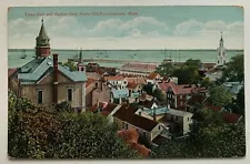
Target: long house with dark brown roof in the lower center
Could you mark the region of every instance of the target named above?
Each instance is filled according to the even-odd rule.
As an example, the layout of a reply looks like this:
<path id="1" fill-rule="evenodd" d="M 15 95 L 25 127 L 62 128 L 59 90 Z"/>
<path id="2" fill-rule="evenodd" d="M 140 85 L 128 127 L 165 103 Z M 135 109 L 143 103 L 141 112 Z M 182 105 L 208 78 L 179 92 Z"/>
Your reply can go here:
<path id="1" fill-rule="evenodd" d="M 114 114 L 114 122 L 120 129 L 136 129 L 139 134 L 148 141 L 152 141 L 164 129 L 158 122 L 136 114 L 138 107 L 123 104 Z"/>

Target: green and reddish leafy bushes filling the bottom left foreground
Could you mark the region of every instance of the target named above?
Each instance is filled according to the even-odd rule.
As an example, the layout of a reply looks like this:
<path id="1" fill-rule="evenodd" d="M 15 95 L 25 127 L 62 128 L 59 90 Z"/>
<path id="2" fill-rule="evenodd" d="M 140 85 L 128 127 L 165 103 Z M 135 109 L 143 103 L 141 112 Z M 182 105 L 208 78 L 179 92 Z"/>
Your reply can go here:
<path id="1" fill-rule="evenodd" d="M 62 105 L 62 104 L 61 104 Z M 137 158 L 117 127 L 93 113 L 54 111 L 9 93 L 8 154 L 13 158 Z"/>

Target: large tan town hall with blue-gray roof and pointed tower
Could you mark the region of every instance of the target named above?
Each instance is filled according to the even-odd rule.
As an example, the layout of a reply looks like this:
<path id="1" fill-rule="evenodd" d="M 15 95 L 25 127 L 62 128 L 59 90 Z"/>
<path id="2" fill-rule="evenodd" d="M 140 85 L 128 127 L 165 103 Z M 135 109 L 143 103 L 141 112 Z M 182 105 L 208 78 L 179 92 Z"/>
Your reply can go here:
<path id="1" fill-rule="evenodd" d="M 84 109 L 86 72 L 70 71 L 58 64 L 58 54 L 50 55 L 50 39 L 43 20 L 36 41 L 36 58 L 11 75 L 10 90 L 38 104 L 68 101 L 72 107 Z"/>

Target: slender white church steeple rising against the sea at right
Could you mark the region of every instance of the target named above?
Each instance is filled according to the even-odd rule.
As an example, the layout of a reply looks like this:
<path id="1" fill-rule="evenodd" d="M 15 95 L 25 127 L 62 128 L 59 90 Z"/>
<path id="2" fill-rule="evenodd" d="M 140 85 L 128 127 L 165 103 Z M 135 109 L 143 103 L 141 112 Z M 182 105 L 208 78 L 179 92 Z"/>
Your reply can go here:
<path id="1" fill-rule="evenodd" d="M 218 51 L 218 58 L 217 58 L 217 65 L 223 65 L 227 61 L 227 54 L 226 54 L 226 48 L 224 48 L 224 41 L 221 32 L 220 43 Z"/>

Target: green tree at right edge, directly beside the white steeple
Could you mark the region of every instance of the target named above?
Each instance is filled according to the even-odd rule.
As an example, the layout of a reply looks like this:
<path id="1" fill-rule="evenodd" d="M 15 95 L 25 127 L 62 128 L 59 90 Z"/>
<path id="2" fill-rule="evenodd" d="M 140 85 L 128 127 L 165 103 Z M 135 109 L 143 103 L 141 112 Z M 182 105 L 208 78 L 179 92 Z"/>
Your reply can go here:
<path id="1" fill-rule="evenodd" d="M 222 71 L 221 81 L 244 81 L 244 58 L 243 54 L 236 55 L 227 63 Z"/>

